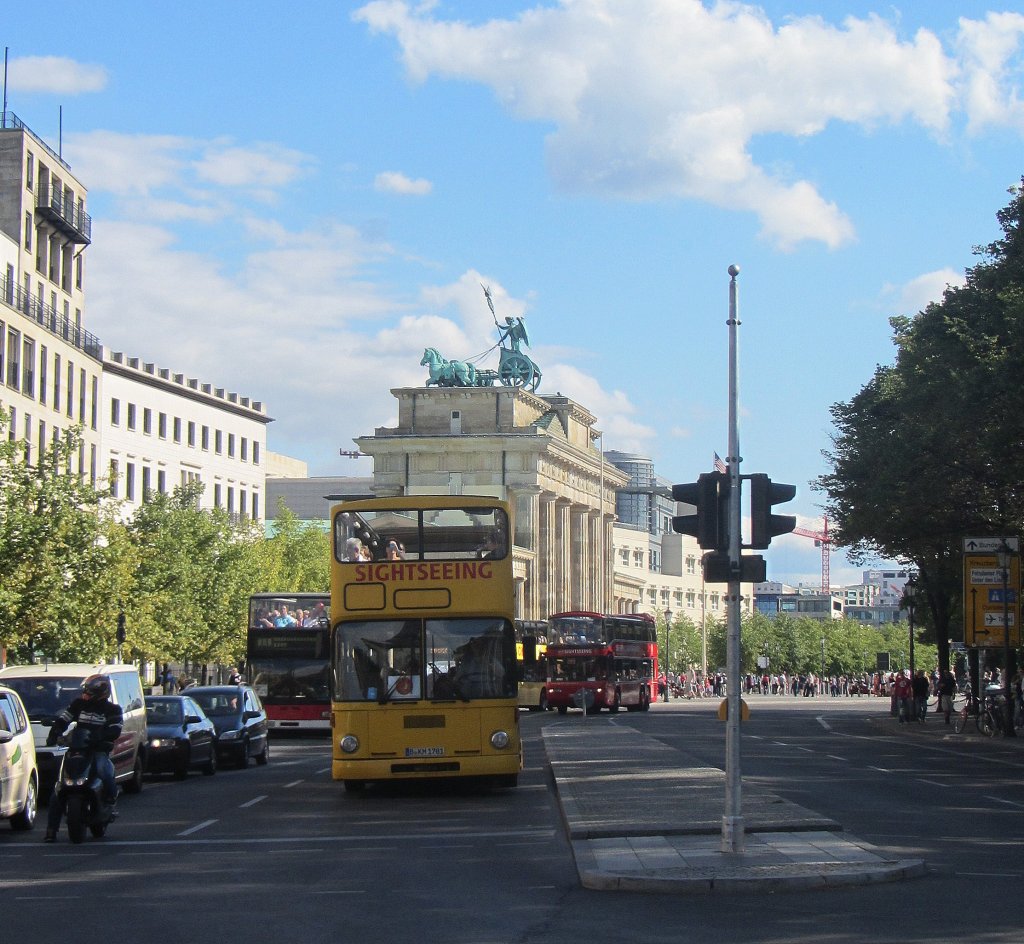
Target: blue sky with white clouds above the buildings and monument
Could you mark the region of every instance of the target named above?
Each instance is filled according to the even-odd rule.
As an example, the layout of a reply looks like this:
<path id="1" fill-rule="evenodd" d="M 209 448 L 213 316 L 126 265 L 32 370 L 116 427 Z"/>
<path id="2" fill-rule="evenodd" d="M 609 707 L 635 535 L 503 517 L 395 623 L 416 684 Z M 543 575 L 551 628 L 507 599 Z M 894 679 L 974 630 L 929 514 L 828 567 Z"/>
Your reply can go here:
<path id="1" fill-rule="evenodd" d="M 87 327 L 262 399 L 269 447 L 316 475 L 369 472 L 338 450 L 394 423 L 425 346 L 492 347 L 485 283 L 540 392 L 692 480 L 727 452 L 735 263 L 742 471 L 796 484 L 816 528 L 829 406 L 1024 173 L 1007 3 L 56 0 L 40 23 L 0 23 L 7 106 L 89 189 Z M 768 558 L 817 580 L 805 538 Z"/>

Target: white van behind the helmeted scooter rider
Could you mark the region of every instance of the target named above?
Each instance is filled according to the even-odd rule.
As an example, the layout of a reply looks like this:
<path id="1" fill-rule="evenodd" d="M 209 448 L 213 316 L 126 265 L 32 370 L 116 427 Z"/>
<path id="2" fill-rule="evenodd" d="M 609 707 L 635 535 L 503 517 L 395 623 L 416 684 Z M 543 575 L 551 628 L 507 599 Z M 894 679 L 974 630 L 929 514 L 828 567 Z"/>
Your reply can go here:
<path id="1" fill-rule="evenodd" d="M 0 685 L 14 689 L 22 696 L 32 722 L 39 769 L 39 796 L 44 800 L 49 798 L 68 749 L 60 745 L 47 746 L 46 736 L 57 715 L 82 693 L 82 683 L 91 675 L 104 675 L 111 680 L 111 699 L 120 704 L 124 713 L 124 729 L 111 752 L 118 782 L 129 793 L 142 789 L 147 743 L 145 699 L 135 666 L 103 662 L 8 666 L 0 669 Z"/>

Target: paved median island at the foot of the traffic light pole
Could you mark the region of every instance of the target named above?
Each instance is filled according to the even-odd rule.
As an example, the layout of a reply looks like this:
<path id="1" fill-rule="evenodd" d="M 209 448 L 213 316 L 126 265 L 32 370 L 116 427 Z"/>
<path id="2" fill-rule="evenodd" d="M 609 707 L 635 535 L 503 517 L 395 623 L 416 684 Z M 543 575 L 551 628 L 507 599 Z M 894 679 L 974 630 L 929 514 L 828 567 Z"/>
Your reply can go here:
<path id="1" fill-rule="evenodd" d="M 544 746 L 585 888 L 776 892 L 924 874 L 839 823 L 743 784 L 744 847 L 721 851 L 725 772 L 625 725 L 548 725 Z"/>

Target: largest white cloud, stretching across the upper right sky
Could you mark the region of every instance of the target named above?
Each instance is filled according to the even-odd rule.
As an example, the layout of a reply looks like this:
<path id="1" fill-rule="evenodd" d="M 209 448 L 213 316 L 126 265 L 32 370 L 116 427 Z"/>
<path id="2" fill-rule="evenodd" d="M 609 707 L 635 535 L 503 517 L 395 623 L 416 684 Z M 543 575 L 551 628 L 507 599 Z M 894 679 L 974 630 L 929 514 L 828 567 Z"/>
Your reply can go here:
<path id="1" fill-rule="evenodd" d="M 562 0 L 479 26 L 434 9 L 377 0 L 353 15 L 395 37 L 413 79 L 476 81 L 517 117 L 553 123 L 547 158 L 563 190 L 753 212 L 781 248 L 839 247 L 854 227 L 812 182 L 758 167 L 758 135 L 805 137 L 837 121 L 945 135 L 957 109 L 972 127 L 1020 124 L 1019 14 L 961 20 L 947 53 L 934 33 L 902 38 L 873 14 L 776 26 L 733 2 Z"/>

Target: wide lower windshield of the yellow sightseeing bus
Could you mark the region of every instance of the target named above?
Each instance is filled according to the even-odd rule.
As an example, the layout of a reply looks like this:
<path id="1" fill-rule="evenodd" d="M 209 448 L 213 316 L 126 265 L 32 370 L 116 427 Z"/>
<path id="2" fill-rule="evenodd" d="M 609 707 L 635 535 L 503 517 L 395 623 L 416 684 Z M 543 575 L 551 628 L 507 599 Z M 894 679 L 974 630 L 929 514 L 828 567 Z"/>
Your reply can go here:
<path id="1" fill-rule="evenodd" d="M 341 701 L 508 698 L 515 652 L 500 617 L 342 624 L 335 637 Z"/>

